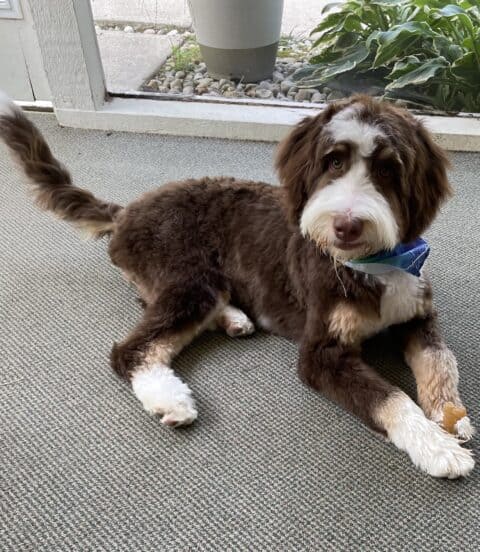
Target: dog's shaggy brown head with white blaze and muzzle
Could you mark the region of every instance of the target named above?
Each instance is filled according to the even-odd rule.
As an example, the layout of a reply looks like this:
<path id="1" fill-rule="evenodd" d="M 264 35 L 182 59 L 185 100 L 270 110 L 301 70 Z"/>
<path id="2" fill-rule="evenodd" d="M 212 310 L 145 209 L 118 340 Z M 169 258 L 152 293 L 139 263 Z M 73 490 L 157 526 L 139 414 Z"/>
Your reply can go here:
<path id="1" fill-rule="evenodd" d="M 302 121 L 277 159 L 290 222 L 345 260 L 418 237 L 450 194 L 447 166 L 419 121 L 368 97 Z"/>

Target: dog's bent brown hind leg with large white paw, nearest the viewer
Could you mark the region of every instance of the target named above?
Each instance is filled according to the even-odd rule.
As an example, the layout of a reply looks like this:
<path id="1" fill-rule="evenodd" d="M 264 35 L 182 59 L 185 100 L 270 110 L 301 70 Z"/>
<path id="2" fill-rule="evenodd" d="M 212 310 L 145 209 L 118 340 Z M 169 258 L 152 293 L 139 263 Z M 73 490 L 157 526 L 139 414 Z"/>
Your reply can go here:
<path id="1" fill-rule="evenodd" d="M 171 362 L 215 320 L 227 301 L 227 294 L 201 283 L 187 290 L 172 287 L 149 304 L 140 324 L 114 345 L 112 368 L 130 380 L 145 410 L 160 414 L 163 424 L 188 425 L 197 417 L 190 388 L 175 375 Z"/>

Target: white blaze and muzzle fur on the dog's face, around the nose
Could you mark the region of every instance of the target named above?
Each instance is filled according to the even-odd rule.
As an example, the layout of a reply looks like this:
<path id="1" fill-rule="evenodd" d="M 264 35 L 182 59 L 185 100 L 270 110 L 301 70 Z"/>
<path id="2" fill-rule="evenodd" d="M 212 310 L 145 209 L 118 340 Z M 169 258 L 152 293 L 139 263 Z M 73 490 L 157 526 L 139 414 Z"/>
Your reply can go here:
<path id="1" fill-rule="evenodd" d="M 386 197 L 375 187 L 366 157 L 375 149 L 375 140 L 383 132 L 356 119 L 358 106 L 351 106 L 333 117 L 325 127 L 335 142 L 354 145 L 354 158 L 347 173 L 318 190 L 308 200 L 300 220 L 300 228 L 319 245 L 340 257 L 356 257 L 381 249 L 392 249 L 399 242 L 398 225 Z M 348 252 L 334 246 L 333 219 L 347 215 L 364 222 L 359 239 L 362 245 Z"/>

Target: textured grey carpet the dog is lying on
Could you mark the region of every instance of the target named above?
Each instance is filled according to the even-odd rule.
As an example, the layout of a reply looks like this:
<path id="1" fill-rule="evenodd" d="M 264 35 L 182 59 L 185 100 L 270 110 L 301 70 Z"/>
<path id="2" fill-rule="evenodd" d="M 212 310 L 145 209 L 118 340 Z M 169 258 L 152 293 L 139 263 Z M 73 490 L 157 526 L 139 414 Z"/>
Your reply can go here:
<path id="1" fill-rule="evenodd" d="M 274 182 L 271 145 L 107 135 L 33 118 L 76 183 L 120 203 L 190 176 Z M 457 194 L 429 233 L 431 270 L 480 425 L 480 156 L 453 160 Z M 2 551 L 480 548 L 480 468 L 453 482 L 417 472 L 303 387 L 283 339 L 206 334 L 176 362 L 197 423 L 172 431 L 146 415 L 108 367 L 111 342 L 139 307 L 105 249 L 37 211 L 0 149 Z M 368 356 L 414 392 L 394 344 L 379 339 Z"/>

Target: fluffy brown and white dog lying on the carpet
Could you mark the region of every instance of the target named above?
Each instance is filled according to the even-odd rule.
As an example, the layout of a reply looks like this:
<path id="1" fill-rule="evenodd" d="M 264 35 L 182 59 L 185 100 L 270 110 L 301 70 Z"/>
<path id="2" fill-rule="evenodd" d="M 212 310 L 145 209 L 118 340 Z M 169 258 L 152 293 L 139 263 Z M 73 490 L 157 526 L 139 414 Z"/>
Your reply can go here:
<path id="1" fill-rule="evenodd" d="M 301 379 L 362 418 L 421 470 L 455 478 L 474 461 L 441 427 L 461 406 L 457 363 L 436 323 L 422 275 L 381 276 L 345 266 L 418 237 L 450 195 L 447 159 L 408 112 L 367 97 L 330 105 L 281 144 L 282 183 L 204 178 L 162 186 L 122 208 L 72 186 L 33 124 L 7 98 L 0 136 L 19 159 L 40 207 L 100 237 L 144 302 L 143 318 L 114 345 L 113 369 L 168 426 L 197 417 L 171 369 L 183 347 L 216 325 L 231 336 L 260 328 L 295 340 Z M 420 406 L 361 356 L 393 326 Z"/>

